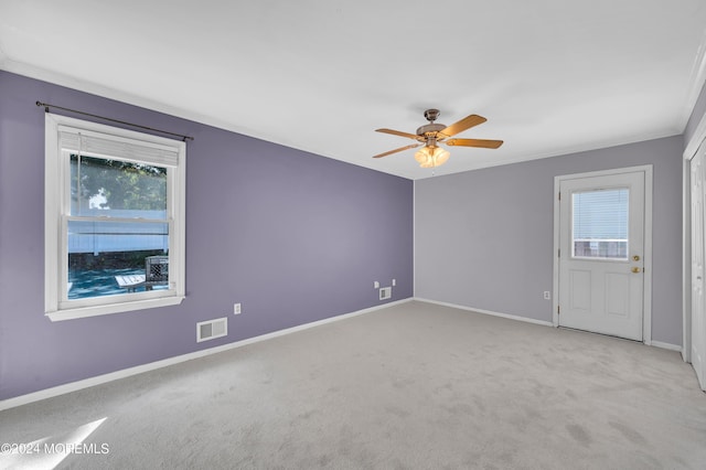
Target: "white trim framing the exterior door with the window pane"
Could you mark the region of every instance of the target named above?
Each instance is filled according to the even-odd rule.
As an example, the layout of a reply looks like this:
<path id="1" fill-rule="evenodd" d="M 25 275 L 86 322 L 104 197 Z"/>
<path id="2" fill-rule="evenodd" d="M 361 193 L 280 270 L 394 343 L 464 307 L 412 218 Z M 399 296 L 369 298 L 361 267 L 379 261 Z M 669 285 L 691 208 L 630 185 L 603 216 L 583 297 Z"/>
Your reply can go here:
<path id="1" fill-rule="evenodd" d="M 554 177 L 554 300 L 552 301 L 552 322 L 559 325 L 559 247 L 560 247 L 560 218 L 559 218 L 559 189 L 566 180 L 581 178 L 607 177 L 622 173 L 644 173 L 644 290 L 642 299 L 642 342 L 652 344 L 652 173 L 651 164 L 639 167 L 617 168 L 612 170 L 589 171 L 585 173 L 560 174 Z"/>

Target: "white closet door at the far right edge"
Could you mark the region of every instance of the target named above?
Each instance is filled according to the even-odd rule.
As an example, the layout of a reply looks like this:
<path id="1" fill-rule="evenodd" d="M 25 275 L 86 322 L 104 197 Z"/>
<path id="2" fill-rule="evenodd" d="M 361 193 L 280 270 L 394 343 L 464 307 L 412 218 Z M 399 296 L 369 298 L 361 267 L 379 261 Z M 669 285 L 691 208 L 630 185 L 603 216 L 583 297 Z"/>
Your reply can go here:
<path id="1" fill-rule="evenodd" d="M 706 169 L 702 148 L 692 159 L 692 365 L 706 389 L 706 312 L 704 310 L 704 191 Z"/>

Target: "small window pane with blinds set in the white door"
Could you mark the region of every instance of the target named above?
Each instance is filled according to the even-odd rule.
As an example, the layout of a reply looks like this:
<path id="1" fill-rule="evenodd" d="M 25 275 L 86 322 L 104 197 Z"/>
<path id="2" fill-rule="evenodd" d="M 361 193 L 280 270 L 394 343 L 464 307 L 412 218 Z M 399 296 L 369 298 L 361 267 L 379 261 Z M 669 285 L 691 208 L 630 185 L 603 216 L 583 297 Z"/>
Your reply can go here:
<path id="1" fill-rule="evenodd" d="M 628 189 L 573 194 L 573 256 L 628 259 Z"/>

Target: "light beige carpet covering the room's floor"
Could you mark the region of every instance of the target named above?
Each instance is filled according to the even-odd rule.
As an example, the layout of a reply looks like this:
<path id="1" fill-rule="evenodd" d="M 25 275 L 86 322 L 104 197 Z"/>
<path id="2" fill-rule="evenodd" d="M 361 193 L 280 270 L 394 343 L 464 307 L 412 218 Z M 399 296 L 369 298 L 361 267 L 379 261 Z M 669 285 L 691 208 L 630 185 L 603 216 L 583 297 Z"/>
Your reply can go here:
<path id="1" fill-rule="evenodd" d="M 409 302 L 0 413 L 84 437 L 0 467 L 706 469 L 706 394 L 676 352 Z"/>

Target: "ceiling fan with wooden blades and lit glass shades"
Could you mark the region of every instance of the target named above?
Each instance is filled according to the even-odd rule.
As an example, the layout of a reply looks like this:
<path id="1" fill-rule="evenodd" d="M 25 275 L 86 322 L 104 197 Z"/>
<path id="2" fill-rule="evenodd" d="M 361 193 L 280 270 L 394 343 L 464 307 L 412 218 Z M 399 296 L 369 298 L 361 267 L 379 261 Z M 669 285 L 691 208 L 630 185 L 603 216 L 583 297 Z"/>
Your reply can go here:
<path id="1" fill-rule="evenodd" d="M 434 124 L 439 117 L 438 109 L 427 109 L 424 111 L 424 117 L 429 124 L 421 126 L 417 129 L 417 133 L 402 132 L 393 129 L 375 129 L 376 132 L 392 133 L 394 136 L 407 137 L 414 139 L 417 143 L 410 143 L 409 146 L 400 147 L 395 150 L 389 150 L 384 153 L 376 154 L 373 158 L 387 157 L 393 153 L 400 152 L 407 149 L 414 149 L 419 146 L 424 146 L 415 153 L 415 160 L 419 162 L 421 168 L 435 168 L 442 165 L 449 159 L 450 153 L 438 146 L 438 143 L 445 143 L 447 146 L 460 146 L 460 147 L 479 147 L 483 149 L 496 149 L 503 145 L 502 140 L 486 140 L 486 139 L 451 139 L 459 132 L 462 132 L 479 124 L 485 122 L 482 116 L 470 115 L 452 124 L 451 126 L 445 126 L 442 124 Z"/>

